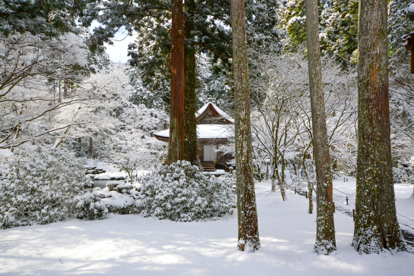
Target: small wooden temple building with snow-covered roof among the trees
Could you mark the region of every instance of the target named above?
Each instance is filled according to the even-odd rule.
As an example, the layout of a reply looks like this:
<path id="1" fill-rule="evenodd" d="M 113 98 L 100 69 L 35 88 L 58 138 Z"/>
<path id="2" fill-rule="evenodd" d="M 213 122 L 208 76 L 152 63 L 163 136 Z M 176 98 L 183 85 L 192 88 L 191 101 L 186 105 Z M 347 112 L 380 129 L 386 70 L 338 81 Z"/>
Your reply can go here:
<path id="1" fill-rule="evenodd" d="M 227 164 L 232 159 L 231 154 L 221 154 L 217 151 L 219 145 L 228 143 L 234 136 L 234 119 L 213 103 L 208 103 L 198 110 L 197 140 L 199 143 L 198 156 L 204 171 L 218 169 L 228 170 Z M 169 129 L 155 132 L 154 137 L 168 143 Z"/>

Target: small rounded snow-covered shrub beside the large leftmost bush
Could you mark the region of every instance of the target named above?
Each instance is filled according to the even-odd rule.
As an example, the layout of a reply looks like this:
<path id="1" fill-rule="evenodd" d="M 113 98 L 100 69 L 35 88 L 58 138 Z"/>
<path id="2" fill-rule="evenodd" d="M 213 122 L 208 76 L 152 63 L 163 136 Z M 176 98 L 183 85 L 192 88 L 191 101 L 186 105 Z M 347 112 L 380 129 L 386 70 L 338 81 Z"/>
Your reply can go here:
<path id="1" fill-rule="evenodd" d="M 108 213 L 107 207 L 100 200 L 96 192 L 86 192 L 75 197 L 76 218 L 80 220 L 100 219 Z"/>

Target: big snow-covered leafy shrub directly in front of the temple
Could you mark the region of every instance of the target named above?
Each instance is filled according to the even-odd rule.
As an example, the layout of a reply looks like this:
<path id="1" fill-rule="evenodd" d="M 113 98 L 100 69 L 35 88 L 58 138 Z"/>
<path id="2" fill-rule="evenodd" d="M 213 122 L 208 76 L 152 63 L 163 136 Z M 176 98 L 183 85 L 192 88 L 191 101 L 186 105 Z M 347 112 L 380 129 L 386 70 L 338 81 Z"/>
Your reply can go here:
<path id="1" fill-rule="evenodd" d="M 206 175 L 187 161 L 165 165 L 145 179 L 142 214 L 180 222 L 231 214 L 236 207 L 231 186 L 230 179 Z"/>

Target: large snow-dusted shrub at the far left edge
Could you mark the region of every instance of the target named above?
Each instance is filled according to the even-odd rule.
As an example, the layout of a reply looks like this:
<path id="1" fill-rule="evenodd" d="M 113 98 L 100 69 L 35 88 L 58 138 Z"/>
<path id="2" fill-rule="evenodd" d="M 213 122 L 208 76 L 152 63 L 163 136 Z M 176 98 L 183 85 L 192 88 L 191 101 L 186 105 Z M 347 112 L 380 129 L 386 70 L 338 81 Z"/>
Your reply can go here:
<path id="1" fill-rule="evenodd" d="M 0 228 L 63 220 L 89 185 L 82 163 L 65 148 L 23 151 L 8 167 L 0 183 Z"/>

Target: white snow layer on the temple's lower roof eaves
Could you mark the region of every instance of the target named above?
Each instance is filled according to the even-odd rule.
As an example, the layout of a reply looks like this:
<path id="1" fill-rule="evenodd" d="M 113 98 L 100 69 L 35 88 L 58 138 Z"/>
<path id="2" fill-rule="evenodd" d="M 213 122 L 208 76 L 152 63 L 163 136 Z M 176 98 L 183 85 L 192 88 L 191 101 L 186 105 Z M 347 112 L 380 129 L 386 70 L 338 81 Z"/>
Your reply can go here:
<path id="1" fill-rule="evenodd" d="M 231 125 L 219 125 L 219 124 L 204 124 L 197 125 L 197 138 L 198 139 L 223 139 L 230 138 L 234 130 L 234 126 Z M 169 137 L 169 129 L 160 132 L 154 132 L 154 135 L 163 138 Z"/>

